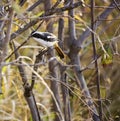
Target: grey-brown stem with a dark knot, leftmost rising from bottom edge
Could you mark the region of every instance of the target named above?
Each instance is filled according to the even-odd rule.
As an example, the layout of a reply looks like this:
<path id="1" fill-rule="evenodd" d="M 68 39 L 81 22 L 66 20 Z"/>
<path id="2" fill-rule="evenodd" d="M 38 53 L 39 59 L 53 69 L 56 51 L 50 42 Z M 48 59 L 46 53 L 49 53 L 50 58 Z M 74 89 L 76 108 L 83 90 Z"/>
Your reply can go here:
<path id="1" fill-rule="evenodd" d="M 13 43 L 13 46 L 14 46 L 14 49 L 16 49 L 14 43 Z M 19 56 L 20 56 L 20 54 L 18 53 L 18 51 L 15 51 L 15 58 L 17 59 Z M 20 63 L 20 65 L 18 65 L 18 69 L 19 69 L 19 73 L 21 75 L 22 82 L 23 82 L 24 96 L 29 105 L 29 108 L 30 108 L 30 111 L 32 114 L 32 118 L 34 121 L 41 121 L 39 111 L 38 111 L 38 108 L 36 105 L 36 101 L 35 101 L 33 92 L 31 90 L 31 86 L 29 85 L 29 83 L 27 81 L 26 72 L 25 72 L 24 66 L 22 65 L 21 59 L 19 60 L 19 63 Z"/>

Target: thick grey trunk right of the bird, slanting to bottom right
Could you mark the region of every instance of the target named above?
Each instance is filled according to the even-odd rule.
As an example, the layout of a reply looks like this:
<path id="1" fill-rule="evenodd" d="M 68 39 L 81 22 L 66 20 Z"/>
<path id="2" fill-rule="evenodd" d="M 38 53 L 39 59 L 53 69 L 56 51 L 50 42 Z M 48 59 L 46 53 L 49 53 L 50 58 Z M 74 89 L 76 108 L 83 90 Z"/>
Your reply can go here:
<path id="1" fill-rule="evenodd" d="M 69 12 L 70 16 L 74 16 L 74 12 L 73 10 L 70 10 Z M 69 52 L 69 57 L 71 59 L 71 63 L 72 65 L 77 65 L 73 68 L 74 73 L 75 73 L 75 77 L 77 80 L 77 84 L 80 87 L 80 89 L 83 91 L 84 97 L 85 97 L 85 101 L 87 103 L 87 105 L 90 107 L 90 112 L 92 115 L 92 119 L 94 121 L 99 121 L 99 115 L 97 113 L 96 107 L 93 103 L 92 97 L 90 95 L 89 89 L 87 87 L 86 81 L 84 79 L 84 75 L 82 73 L 80 73 L 81 70 L 81 65 L 80 65 L 80 59 L 79 59 L 79 51 L 77 51 L 77 46 L 78 42 L 76 41 L 76 32 L 75 32 L 75 23 L 73 20 L 69 20 L 69 31 L 70 31 L 70 38 L 69 38 L 69 42 L 70 42 L 70 52 Z"/>

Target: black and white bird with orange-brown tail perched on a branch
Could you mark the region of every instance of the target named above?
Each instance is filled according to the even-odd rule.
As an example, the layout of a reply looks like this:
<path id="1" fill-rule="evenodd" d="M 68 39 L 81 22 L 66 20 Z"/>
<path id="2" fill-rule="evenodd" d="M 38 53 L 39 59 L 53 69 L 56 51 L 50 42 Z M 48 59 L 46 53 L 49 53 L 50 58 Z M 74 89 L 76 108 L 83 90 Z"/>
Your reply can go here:
<path id="1" fill-rule="evenodd" d="M 64 58 L 64 53 L 62 49 L 59 47 L 58 41 L 57 41 L 58 39 L 54 34 L 49 32 L 33 31 L 31 33 L 31 37 L 37 42 L 39 42 L 39 44 L 43 47 L 55 48 L 60 58 Z"/>

